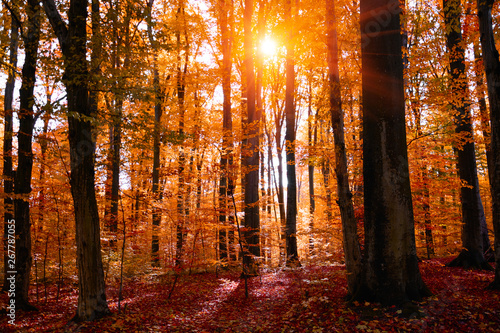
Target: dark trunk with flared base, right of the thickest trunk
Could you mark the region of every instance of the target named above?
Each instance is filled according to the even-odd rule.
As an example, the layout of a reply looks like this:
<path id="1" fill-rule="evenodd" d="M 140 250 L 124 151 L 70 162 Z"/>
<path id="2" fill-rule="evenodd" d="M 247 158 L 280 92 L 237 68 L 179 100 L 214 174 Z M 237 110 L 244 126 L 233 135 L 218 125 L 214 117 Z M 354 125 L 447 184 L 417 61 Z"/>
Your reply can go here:
<path id="1" fill-rule="evenodd" d="M 465 72 L 465 52 L 462 47 L 460 0 L 443 0 L 446 46 L 450 58 L 451 108 L 455 114 L 457 167 L 462 207 L 462 247 L 464 250 L 448 265 L 464 268 L 491 269 L 484 259 L 481 239 L 481 210 L 476 156 L 472 133 L 468 87 Z M 481 206 L 481 207 L 480 207 Z"/>

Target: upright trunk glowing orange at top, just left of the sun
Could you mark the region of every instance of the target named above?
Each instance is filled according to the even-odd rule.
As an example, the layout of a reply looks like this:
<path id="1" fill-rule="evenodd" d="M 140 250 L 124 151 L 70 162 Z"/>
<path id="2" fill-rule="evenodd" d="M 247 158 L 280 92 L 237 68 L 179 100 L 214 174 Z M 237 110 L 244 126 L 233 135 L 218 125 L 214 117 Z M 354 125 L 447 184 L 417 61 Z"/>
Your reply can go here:
<path id="1" fill-rule="evenodd" d="M 260 218 L 259 218 L 259 121 L 255 108 L 255 73 L 252 40 L 253 0 L 245 0 L 243 12 L 245 76 L 247 99 L 246 131 L 248 141 L 242 153 L 245 196 L 245 228 L 243 237 L 246 243 L 243 254 L 243 275 L 257 275 L 255 257 L 260 257 Z"/>

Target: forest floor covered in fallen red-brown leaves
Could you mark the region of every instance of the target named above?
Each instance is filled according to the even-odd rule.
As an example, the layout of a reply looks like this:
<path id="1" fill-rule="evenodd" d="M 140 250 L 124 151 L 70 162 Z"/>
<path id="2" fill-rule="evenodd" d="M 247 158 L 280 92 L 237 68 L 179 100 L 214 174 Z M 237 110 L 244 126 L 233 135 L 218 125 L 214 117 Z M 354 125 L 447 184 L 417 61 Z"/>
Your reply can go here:
<path id="1" fill-rule="evenodd" d="M 58 301 L 51 286 L 47 302 L 33 302 L 38 312 L 16 313 L 15 326 L 1 314 L 0 332 L 500 332 L 500 292 L 485 290 L 493 273 L 445 267 L 450 260 L 421 262 L 434 296 L 414 307 L 347 304 L 341 265 L 267 270 L 248 280 L 248 298 L 237 272 L 180 275 L 175 285 L 149 275 L 125 281 L 121 313 L 111 284 L 112 315 L 67 325 L 76 286 L 64 286 Z M 5 308 L 7 295 L 0 301 Z"/>

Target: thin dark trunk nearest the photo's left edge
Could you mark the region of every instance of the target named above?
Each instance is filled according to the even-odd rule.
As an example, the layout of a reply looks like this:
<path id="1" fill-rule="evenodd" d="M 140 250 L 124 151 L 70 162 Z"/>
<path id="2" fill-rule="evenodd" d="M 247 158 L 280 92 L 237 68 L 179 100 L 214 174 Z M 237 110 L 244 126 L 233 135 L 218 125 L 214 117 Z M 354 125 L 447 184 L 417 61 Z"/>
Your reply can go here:
<path id="1" fill-rule="evenodd" d="M 3 191 L 5 198 L 3 199 L 3 246 L 4 246 L 4 279 L 2 291 L 9 290 L 9 282 L 7 281 L 8 269 L 8 235 L 9 235 L 9 221 L 14 217 L 13 202 L 10 195 L 14 190 L 13 172 L 12 172 L 12 102 L 14 99 L 14 85 L 17 67 L 17 47 L 19 43 L 19 26 L 17 20 L 12 18 L 10 28 L 10 44 L 9 44 L 9 74 L 7 76 L 7 83 L 5 84 L 4 94 L 4 134 L 3 134 Z"/>

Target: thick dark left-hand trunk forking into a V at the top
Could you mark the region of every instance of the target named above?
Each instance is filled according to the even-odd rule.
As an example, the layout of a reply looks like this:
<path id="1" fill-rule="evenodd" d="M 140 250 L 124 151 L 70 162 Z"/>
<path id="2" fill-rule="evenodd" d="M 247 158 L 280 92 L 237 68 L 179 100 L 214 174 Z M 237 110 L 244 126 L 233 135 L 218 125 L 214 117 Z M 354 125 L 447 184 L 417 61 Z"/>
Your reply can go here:
<path id="1" fill-rule="evenodd" d="M 87 1 L 70 1 L 68 25 L 63 21 L 54 0 L 44 0 L 43 6 L 64 56 L 63 82 L 68 100 L 70 185 L 75 211 L 79 290 L 73 320 L 91 321 L 110 311 L 106 301 L 94 187 L 95 144 L 91 133 L 95 114 L 91 113 L 88 103 Z"/>

